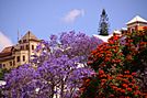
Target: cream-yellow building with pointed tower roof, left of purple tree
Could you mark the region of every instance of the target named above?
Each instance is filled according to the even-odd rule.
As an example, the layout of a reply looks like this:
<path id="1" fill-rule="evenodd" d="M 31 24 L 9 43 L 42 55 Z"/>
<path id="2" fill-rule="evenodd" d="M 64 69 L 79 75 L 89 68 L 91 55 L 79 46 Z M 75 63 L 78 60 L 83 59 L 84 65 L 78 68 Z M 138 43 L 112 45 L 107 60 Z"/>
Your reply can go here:
<path id="1" fill-rule="evenodd" d="M 41 40 L 29 31 L 18 44 L 5 47 L 0 53 L 0 67 L 10 69 L 30 63 L 30 57 L 39 42 Z"/>

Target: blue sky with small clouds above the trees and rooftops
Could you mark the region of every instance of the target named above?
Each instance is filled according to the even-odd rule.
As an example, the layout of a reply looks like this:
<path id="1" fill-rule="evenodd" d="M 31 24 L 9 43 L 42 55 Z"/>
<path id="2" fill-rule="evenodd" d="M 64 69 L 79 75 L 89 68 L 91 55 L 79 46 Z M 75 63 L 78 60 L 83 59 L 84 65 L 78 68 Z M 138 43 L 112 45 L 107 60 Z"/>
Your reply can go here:
<path id="1" fill-rule="evenodd" d="M 135 15 L 147 20 L 146 6 L 147 0 L 0 0 L 0 48 L 15 44 L 18 31 L 24 35 L 30 30 L 44 40 L 71 30 L 98 34 L 102 9 L 111 33 Z"/>

